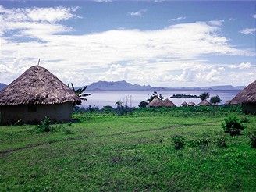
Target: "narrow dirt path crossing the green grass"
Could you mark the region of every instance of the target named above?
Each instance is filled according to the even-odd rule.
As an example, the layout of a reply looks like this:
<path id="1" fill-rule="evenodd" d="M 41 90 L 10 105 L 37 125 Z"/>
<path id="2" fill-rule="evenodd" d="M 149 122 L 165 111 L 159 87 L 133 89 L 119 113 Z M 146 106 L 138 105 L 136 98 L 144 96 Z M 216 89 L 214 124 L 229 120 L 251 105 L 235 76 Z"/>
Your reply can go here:
<path id="1" fill-rule="evenodd" d="M 54 143 L 58 143 L 61 141 L 69 141 L 69 140 L 84 140 L 84 139 L 90 139 L 90 138 L 98 138 L 98 137 L 115 137 L 115 136 L 119 136 L 119 135 L 127 135 L 127 134 L 133 134 L 133 133 L 144 133 L 144 132 L 151 132 L 151 131 L 158 131 L 158 130 L 169 130 L 169 129 L 175 129 L 175 128 L 181 128 L 184 126 L 201 126 L 201 125 L 206 125 L 206 124 L 211 124 L 211 123 L 219 123 L 222 121 L 215 121 L 215 122 L 206 122 L 206 123 L 196 123 L 196 124 L 183 124 L 180 126 L 168 126 L 168 127 L 162 127 L 162 128 L 157 128 L 157 129 L 151 129 L 151 130 L 137 130 L 137 131 L 130 131 L 130 132 L 124 132 L 124 133 L 113 133 L 113 134 L 107 134 L 107 135 L 95 135 L 95 136 L 90 136 L 90 137 L 76 137 L 76 138 L 69 138 L 69 139 L 62 139 L 62 140 L 52 140 L 49 141 L 47 143 L 42 143 L 42 144 L 31 144 L 28 145 L 27 147 L 24 148 L 16 148 L 16 149 L 12 149 L 12 150 L 8 150 L 8 151 L 2 151 L 0 152 L 0 155 L 5 155 L 5 154 L 9 154 L 15 151 L 22 151 L 22 150 L 26 150 L 29 148 L 37 148 L 40 146 L 44 146 L 44 145 L 48 145 L 48 144 L 54 144 Z"/>

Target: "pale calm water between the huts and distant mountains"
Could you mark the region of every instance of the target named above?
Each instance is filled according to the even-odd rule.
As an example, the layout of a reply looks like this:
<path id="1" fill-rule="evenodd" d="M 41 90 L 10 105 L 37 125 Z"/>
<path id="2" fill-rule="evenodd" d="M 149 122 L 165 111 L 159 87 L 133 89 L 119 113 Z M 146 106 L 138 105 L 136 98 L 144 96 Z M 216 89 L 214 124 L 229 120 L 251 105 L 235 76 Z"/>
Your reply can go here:
<path id="1" fill-rule="evenodd" d="M 196 105 L 201 101 L 200 98 L 170 98 L 173 94 L 190 94 L 200 95 L 203 92 L 208 92 L 210 98 L 219 95 L 222 99 L 220 104 L 225 104 L 226 101 L 231 100 L 240 91 L 157 91 L 162 94 L 162 97 L 169 98 L 176 106 L 180 106 L 183 101 L 194 102 Z M 86 91 L 92 95 L 87 97 L 87 101 L 83 101 L 80 107 L 88 107 L 95 105 L 98 108 L 103 106 L 112 106 L 116 108 L 116 102 L 121 101 L 124 105 L 129 107 L 138 107 L 140 101 L 147 101 L 153 94 L 153 91 Z M 209 101 L 210 99 L 208 99 Z"/>

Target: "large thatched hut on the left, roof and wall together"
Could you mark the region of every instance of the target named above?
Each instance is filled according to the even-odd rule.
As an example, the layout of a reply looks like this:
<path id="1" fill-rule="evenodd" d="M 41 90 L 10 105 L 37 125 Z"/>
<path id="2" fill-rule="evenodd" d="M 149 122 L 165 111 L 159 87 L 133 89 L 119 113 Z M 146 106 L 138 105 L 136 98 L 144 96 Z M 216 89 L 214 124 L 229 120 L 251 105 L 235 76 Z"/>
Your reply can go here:
<path id="1" fill-rule="evenodd" d="M 0 123 L 71 120 L 73 101 L 80 98 L 41 66 L 32 66 L 0 91 Z"/>

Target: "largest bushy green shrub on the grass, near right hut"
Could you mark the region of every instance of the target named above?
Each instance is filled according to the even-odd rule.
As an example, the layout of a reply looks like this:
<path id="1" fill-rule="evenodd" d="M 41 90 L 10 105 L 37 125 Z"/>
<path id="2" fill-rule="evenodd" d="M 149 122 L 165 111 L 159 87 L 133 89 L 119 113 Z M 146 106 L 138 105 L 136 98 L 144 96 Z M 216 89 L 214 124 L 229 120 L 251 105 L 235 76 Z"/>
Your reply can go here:
<path id="1" fill-rule="evenodd" d="M 243 124 L 236 118 L 236 116 L 229 116 L 224 119 L 225 123 L 222 123 L 222 128 L 225 133 L 230 133 L 231 136 L 240 135 L 241 130 L 244 130 Z"/>

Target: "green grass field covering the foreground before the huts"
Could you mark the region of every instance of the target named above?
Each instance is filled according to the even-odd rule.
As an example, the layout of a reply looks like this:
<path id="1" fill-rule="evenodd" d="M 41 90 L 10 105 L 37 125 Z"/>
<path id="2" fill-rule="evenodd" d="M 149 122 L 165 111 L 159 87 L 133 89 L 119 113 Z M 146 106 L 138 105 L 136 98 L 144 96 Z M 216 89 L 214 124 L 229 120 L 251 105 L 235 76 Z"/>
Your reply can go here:
<path id="1" fill-rule="evenodd" d="M 230 114 L 246 129 L 231 137 Z M 141 109 L 73 114 L 77 123 L 0 126 L 0 191 L 255 191 L 256 116 L 240 108 Z M 185 139 L 175 149 L 174 135 Z M 219 146 L 226 140 L 227 147 Z"/>

